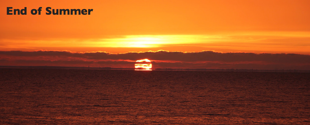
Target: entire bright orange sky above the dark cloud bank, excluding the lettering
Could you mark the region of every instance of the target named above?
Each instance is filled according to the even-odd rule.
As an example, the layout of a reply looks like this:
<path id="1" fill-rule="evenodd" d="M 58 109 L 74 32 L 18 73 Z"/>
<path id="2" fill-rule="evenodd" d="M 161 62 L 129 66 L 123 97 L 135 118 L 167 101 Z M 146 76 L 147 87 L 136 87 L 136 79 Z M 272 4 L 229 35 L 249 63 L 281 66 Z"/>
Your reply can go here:
<path id="1" fill-rule="evenodd" d="M 0 50 L 310 54 L 309 0 L 1 1 Z M 6 15 L 7 7 L 27 15 Z M 31 9 L 42 7 L 41 15 Z M 93 9 L 91 15 L 46 15 Z"/>

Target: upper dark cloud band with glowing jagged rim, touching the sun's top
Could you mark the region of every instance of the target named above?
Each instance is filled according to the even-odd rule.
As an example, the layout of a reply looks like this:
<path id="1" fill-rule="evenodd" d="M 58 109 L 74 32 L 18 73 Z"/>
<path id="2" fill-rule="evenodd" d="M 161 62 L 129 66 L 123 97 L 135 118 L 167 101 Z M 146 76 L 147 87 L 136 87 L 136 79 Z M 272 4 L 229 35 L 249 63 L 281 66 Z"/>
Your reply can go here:
<path id="1" fill-rule="evenodd" d="M 302 54 L 254 54 L 254 53 L 219 53 L 213 51 L 202 52 L 129 52 L 121 54 L 111 54 L 106 52 L 86 52 L 74 53 L 70 51 L 0 51 L 1 55 L 8 56 L 58 56 L 76 57 L 95 60 L 138 60 L 148 58 L 150 60 L 170 60 L 170 61 L 221 61 L 221 62 L 240 62 L 240 61 L 265 61 L 270 63 L 310 63 L 310 55 Z"/>

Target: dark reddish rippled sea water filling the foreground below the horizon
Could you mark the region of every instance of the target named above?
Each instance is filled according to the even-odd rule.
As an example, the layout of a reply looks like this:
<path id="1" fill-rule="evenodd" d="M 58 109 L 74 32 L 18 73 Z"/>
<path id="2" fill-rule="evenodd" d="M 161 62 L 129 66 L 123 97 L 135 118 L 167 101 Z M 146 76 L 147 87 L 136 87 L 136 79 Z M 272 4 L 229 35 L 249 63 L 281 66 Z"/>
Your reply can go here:
<path id="1" fill-rule="evenodd" d="M 310 124 L 310 73 L 0 69 L 0 124 Z"/>

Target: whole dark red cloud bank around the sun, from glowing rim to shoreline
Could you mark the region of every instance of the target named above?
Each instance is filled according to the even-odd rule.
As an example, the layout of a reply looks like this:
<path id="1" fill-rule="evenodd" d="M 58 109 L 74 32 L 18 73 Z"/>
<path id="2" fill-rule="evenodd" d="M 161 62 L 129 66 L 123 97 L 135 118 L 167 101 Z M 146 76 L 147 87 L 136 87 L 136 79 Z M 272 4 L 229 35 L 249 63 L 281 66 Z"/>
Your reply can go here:
<path id="1" fill-rule="evenodd" d="M 0 51 L 0 65 L 92 65 L 133 67 L 136 60 L 148 58 L 157 68 L 244 68 L 307 69 L 310 55 L 148 51 L 112 54 L 107 52 L 71 51 Z M 11 62 L 11 63 L 9 63 Z"/>

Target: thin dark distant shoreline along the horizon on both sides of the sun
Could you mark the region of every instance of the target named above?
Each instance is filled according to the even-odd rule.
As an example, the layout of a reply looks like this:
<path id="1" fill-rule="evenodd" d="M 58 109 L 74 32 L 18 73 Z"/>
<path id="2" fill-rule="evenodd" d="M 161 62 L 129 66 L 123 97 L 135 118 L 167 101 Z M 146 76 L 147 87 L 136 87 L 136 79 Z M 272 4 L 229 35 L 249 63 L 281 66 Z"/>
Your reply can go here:
<path id="1" fill-rule="evenodd" d="M 113 67 L 61 67 L 61 66 L 0 66 L 0 68 L 23 68 L 23 69 L 101 69 L 101 70 L 135 70 L 135 68 Z M 258 69 L 172 69 L 156 68 L 153 71 L 236 71 L 236 72 L 310 72 L 310 70 L 258 70 Z"/>

